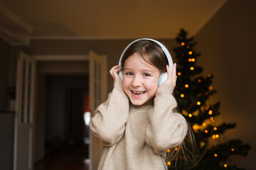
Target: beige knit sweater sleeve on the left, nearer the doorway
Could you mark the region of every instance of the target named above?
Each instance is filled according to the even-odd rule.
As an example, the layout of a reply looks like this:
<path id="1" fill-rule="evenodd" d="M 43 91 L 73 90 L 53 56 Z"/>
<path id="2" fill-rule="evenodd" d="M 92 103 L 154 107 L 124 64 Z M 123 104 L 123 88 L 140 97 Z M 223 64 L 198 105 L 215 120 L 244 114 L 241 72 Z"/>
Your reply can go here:
<path id="1" fill-rule="evenodd" d="M 102 140 L 104 146 L 110 147 L 124 135 L 128 119 L 129 99 L 122 89 L 122 81 L 114 81 L 114 89 L 107 101 L 100 104 L 90 120 L 92 133 Z"/>

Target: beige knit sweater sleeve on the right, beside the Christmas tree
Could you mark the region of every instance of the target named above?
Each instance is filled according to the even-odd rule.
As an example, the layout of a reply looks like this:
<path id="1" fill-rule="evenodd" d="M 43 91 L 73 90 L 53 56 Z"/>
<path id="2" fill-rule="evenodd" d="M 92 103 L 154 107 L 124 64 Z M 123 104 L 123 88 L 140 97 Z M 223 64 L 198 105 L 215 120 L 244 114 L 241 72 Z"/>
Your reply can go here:
<path id="1" fill-rule="evenodd" d="M 172 95 L 174 89 L 169 84 L 162 84 L 156 91 L 154 108 L 149 111 L 150 123 L 146 127 L 146 143 L 157 154 L 173 148 L 183 142 L 188 131 L 186 119 L 175 113 L 177 103 Z"/>

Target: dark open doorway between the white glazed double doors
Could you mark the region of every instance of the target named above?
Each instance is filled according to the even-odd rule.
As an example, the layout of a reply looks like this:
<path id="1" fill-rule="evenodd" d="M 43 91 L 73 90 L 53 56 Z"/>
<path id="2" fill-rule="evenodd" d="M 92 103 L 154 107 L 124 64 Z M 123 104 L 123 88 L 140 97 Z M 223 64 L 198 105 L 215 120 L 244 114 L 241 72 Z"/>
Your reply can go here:
<path id="1" fill-rule="evenodd" d="M 34 169 L 89 169 L 89 62 L 38 62 Z M 71 73 L 70 73 L 71 72 Z"/>

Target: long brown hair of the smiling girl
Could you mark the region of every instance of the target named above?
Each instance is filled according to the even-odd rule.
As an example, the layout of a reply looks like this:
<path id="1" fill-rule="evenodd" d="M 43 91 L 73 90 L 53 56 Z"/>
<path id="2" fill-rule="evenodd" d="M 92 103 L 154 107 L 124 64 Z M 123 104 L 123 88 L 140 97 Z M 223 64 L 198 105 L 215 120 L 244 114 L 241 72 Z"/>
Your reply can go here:
<path id="1" fill-rule="evenodd" d="M 156 44 L 156 42 L 150 40 L 139 40 L 130 45 L 122 57 L 121 69 L 124 67 L 124 62 L 134 53 L 138 53 L 143 60 L 154 65 L 160 72 L 166 72 L 168 60 L 164 51 L 158 44 Z M 174 112 L 178 113 L 178 108 L 174 108 Z M 167 152 L 166 162 L 171 162 L 171 165 L 174 163 L 175 167 L 178 164 L 182 169 L 186 169 L 188 166 L 196 162 L 196 152 L 196 140 L 193 135 L 193 130 L 188 124 L 188 132 L 185 139 L 180 145 L 172 148 L 170 152 Z"/>

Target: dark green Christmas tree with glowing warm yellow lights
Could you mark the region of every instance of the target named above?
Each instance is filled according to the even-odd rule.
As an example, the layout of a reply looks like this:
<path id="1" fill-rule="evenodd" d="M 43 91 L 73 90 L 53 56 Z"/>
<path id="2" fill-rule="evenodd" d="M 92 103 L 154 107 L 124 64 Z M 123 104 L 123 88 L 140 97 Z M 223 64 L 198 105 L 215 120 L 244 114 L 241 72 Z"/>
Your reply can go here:
<path id="1" fill-rule="evenodd" d="M 228 164 L 228 158 L 235 154 L 245 157 L 250 146 L 242 144 L 241 140 L 218 142 L 219 138 L 224 136 L 225 130 L 235 128 L 235 123 L 219 124 L 215 120 L 215 117 L 220 115 L 220 102 L 208 102 L 208 98 L 217 92 L 211 86 L 213 75 L 201 76 L 203 68 L 196 65 L 201 54 L 193 50 L 196 45 L 193 37 L 187 38 L 187 32 L 181 29 L 176 42 L 179 44 L 174 48 L 178 79 L 174 96 L 178 103 L 178 110 L 192 127 L 198 149 L 195 159 L 192 158 L 193 163 L 186 169 L 242 170 L 235 165 Z M 187 141 L 184 140 L 184 142 Z M 168 149 L 167 152 L 176 152 L 176 150 L 177 148 L 173 151 Z M 177 164 L 167 162 L 169 169 L 184 170 L 183 160 L 184 158 L 178 157 Z"/>

